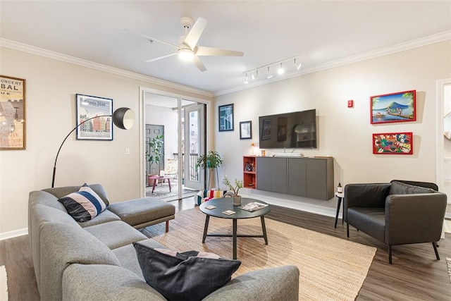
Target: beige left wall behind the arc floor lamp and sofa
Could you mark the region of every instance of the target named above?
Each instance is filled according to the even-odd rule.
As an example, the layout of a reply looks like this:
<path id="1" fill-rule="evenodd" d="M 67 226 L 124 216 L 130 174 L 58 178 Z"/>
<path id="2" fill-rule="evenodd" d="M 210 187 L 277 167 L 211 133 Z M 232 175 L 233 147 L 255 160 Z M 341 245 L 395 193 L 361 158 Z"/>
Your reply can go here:
<path id="1" fill-rule="evenodd" d="M 0 151 L 0 238 L 27 228 L 27 199 L 32 190 L 49 188 L 54 159 L 63 138 L 75 126 L 75 94 L 113 99 L 140 116 L 140 86 L 210 100 L 192 90 L 165 87 L 5 47 L 0 74 L 27 80 L 27 145 Z M 101 183 L 112 202 L 140 197 L 140 127 L 114 128 L 113 141 L 75 140 L 61 149 L 56 186 Z M 125 155 L 125 148 L 130 155 Z M 2 236 L 3 235 L 3 236 Z"/>

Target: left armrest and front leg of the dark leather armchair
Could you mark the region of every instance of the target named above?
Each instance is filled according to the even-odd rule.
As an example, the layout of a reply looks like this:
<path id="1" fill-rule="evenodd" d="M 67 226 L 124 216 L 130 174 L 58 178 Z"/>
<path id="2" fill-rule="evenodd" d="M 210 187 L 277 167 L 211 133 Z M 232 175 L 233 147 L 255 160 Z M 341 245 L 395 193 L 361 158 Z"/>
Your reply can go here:
<path id="1" fill-rule="evenodd" d="M 365 183 L 345 185 L 345 221 L 347 221 L 347 208 L 350 207 L 379 207 L 383 208 L 385 197 L 390 192 L 390 183 Z"/>

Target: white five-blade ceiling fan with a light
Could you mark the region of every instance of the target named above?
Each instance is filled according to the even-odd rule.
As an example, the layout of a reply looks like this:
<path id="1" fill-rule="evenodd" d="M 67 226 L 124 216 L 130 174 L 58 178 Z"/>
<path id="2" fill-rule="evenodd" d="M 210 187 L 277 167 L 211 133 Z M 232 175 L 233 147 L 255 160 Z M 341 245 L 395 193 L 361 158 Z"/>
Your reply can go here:
<path id="1" fill-rule="evenodd" d="M 197 18 L 196 22 L 192 20 L 192 18 L 189 17 L 183 17 L 180 18 L 180 25 L 183 26 L 185 29 L 185 35 L 179 38 L 179 45 L 171 44 L 168 42 L 164 42 L 160 39 L 155 39 L 154 37 L 149 37 L 148 35 L 144 35 L 140 32 L 134 32 L 132 30 L 129 30 L 128 28 L 123 28 L 123 30 L 132 32 L 136 35 L 140 35 L 142 37 L 145 37 L 146 39 L 149 39 L 151 43 L 160 42 L 163 44 L 166 44 L 168 46 L 174 47 L 177 49 L 176 52 L 172 54 L 167 54 L 166 56 L 159 56 L 155 59 L 149 59 L 146 62 L 152 62 L 152 61 L 158 61 L 160 59 L 165 59 L 169 56 L 175 56 L 178 54 L 178 57 L 185 61 L 192 61 L 197 68 L 201 71 L 205 71 L 206 68 L 204 66 L 204 63 L 199 59 L 199 56 L 243 56 L 244 54 L 241 51 L 233 51 L 233 50 L 226 50 L 226 49 L 219 49 L 219 48 L 213 48 L 213 47 L 202 47 L 197 46 L 197 42 L 199 41 L 200 36 L 202 35 L 202 32 L 204 32 L 204 29 L 206 27 L 206 23 L 208 21 L 204 18 Z M 193 25 L 194 23 L 194 25 Z M 191 30 L 189 30 L 191 28 Z M 189 30 L 189 31 L 188 31 Z"/>

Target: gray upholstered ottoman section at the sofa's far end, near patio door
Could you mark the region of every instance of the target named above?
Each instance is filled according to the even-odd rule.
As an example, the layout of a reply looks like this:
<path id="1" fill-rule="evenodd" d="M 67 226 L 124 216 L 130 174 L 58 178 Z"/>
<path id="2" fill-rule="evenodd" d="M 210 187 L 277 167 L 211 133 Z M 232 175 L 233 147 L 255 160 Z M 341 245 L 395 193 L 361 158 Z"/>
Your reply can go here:
<path id="1" fill-rule="evenodd" d="M 154 197 L 109 204 L 108 209 L 136 229 L 166 221 L 166 232 L 168 232 L 169 221 L 175 219 L 175 206 Z"/>

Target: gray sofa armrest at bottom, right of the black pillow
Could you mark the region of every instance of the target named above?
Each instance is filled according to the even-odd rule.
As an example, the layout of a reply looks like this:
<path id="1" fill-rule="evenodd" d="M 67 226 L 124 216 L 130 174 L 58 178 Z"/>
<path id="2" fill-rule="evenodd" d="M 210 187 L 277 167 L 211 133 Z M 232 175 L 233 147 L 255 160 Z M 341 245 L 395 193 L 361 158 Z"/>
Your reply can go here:
<path id="1" fill-rule="evenodd" d="M 204 300 L 299 300 L 299 269 L 297 266 L 280 266 L 251 271 L 233 278 Z"/>

